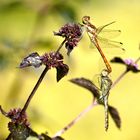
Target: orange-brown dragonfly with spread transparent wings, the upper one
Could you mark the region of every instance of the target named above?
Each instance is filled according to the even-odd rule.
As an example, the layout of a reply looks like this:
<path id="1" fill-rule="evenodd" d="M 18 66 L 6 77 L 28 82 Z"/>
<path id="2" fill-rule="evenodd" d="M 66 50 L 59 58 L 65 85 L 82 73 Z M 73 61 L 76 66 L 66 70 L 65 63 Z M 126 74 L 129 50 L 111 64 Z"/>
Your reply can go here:
<path id="1" fill-rule="evenodd" d="M 112 41 L 112 40 L 109 40 L 109 39 L 106 39 L 106 38 L 103 38 L 103 37 L 100 36 L 100 34 L 102 34 L 102 32 L 105 31 L 104 28 L 113 24 L 115 21 L 113 21 L 111 23 L 108 23 L 106 25 L 103 25 L 101 27 L 98 27 L 98 28 L 96 28 L 96 26 L 93 25 L 90 22 L 90 17 L 89 16 L 84 16 L 82 18 L 82 22 L 83 22 L 83 26 L 86 28 L 86 31 L 88 33 L 88 36 L 89 36 L 91 42 L 98 49 L 105 65 L 106 65 L 106 68 L 107 68 L 108 72 L 111 73 L 112 68 L 111 68 L 106 56 L 104 55 L 104 53 L 103 53 L 103 51 L 102 51 L 102 49 L 99 45 L 99 42 L 106 43 L 108 46 L 121 48 L 121 46 L 122 46 L 121 42 Z M 108 30 L 108 33 L 109 33 L 110 36 L 111 36 L 111 33 L 119 34 L 120 32 L 121 32 L 120 30 Z M 124 50 L 123 48 L 121 48 L 121 49 Z"/>

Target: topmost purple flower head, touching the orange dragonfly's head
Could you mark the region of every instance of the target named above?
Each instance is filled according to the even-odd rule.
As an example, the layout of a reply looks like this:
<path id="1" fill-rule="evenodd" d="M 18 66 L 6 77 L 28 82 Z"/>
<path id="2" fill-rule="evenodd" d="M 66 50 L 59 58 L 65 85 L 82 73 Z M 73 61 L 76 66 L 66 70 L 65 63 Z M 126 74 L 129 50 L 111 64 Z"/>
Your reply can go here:
<path id="1" fill-rule="evenodd" d="M 54 32 L 54 35 L 62 36 L 66 39 L 65 47 L 68 50 L 67 54 L 77 46 L 82 37 L 82 26 L 75 23 L 67 23 L 60 28 L 59 32 Z"/>

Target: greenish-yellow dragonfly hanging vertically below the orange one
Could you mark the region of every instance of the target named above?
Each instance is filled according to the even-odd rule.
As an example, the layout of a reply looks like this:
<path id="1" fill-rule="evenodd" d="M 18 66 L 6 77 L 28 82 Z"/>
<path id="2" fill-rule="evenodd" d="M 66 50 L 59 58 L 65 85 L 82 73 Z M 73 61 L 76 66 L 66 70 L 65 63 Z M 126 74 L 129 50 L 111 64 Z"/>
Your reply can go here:
<path id="1" fill-rule="evenodd" d="M 108 97 L 112 86 L 112 80 L 109 77 L 108 70 L 102 70 L 100 74 L 100 97 L 98 102 L 104 105 L 105 110 L 105 130 L 108 130 L 109 126 L 109 114 L 108 114 Z"/>

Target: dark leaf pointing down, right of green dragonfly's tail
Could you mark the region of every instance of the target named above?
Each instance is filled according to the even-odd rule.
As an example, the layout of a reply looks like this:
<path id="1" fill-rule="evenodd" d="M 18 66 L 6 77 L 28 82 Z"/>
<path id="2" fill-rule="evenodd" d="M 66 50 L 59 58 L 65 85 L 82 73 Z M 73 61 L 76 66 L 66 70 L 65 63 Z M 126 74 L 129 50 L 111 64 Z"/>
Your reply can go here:
<path id="1" fill-rule="evenodd" d="M 121 118 L 119 116 L 119 112 L 116 108 L 109 106 L 108 107 L 110 116 L 112 117 L 113 121 L 115 122 L 116 126 L 120 129 L 121 128 Z"/>

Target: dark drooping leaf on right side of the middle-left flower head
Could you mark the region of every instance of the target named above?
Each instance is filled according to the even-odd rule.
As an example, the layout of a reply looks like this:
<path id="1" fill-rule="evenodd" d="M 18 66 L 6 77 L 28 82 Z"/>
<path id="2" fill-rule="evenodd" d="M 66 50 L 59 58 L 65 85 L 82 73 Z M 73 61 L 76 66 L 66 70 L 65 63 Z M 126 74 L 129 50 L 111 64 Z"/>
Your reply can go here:
<path id="1" fill-rule="evenodd" d="M 69 71 L 69 67 L 66 64 L 56 67 L 57 70 L 57 82 L 61 80 Z"/>

